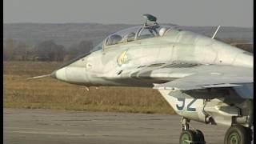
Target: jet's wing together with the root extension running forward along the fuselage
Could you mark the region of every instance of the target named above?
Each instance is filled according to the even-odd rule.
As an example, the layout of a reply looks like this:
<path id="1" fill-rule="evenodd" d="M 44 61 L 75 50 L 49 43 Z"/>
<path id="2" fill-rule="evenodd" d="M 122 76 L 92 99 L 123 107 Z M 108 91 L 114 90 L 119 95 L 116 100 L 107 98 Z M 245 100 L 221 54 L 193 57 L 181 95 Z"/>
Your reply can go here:
<path id="1" fill-rule="evenodd" d="M 147 70 L 146 70 L 147 69 Z M 198 90 L 206 88 L 234 87 L 243 91 L 246 98 L 253 98 L 253 69 L 238 66 L 201 65 L 189 67 L 146 68 L 136 72 L 139 79 L 168 79 L 162 84 L 154 84 L 154 89 Z M 133 75 L 133 74 L 132 74 Z M 155 82 L 156 83 L 156 82 Z M 248 94 L 244 88 L 250 89 Z"/>

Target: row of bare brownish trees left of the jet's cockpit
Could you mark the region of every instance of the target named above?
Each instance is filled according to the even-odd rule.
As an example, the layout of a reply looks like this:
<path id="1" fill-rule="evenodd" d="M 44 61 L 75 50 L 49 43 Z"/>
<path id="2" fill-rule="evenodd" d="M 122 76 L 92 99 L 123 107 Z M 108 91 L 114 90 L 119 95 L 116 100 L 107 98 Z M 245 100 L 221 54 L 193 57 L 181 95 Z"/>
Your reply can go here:
<path id="1" fill-rule="evenodd" d="M 84 40 L 73 46 L 65 47 L 54 40 L 38 42 L 31 46 L 26 42 L 6 39 L 3 45 L 4 61 L 55 61 L 63 62 L 89 52 L 93 42 Z"/>

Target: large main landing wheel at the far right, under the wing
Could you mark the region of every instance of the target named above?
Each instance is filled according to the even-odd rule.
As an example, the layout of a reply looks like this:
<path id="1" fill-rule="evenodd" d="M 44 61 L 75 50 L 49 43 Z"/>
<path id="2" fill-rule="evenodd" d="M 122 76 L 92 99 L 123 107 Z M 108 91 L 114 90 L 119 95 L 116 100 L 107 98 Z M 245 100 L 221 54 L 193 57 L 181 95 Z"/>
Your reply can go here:
<path id="1" fill-rule="evenodd" d="M 225 144 L 250 144 L 252 140 L 251 130 L 244 126 L 234 125 L 226 131 Z"/>

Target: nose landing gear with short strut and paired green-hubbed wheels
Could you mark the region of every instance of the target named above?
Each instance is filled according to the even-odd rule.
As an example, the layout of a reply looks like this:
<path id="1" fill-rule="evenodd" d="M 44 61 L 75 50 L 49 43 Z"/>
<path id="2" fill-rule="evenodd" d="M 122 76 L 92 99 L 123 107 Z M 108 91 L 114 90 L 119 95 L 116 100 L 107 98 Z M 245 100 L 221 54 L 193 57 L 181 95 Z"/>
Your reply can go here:
<path id="1" fill-rule="evenodd" d="M 190 130 L 190 119 L 182 118 L 182 134 L 179 138 L 180 144 L 205 144 L 205 138 L 201 130 Z"/>

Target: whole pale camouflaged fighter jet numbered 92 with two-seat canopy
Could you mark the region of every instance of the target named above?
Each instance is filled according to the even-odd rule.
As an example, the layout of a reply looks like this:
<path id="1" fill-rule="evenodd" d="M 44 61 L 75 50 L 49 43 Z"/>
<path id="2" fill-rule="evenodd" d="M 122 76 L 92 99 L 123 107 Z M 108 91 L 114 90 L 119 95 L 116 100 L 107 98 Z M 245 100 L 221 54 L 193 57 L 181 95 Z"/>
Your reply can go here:
<path id="1" fill-rule="evenodd" d="M 182 116 L 181 144 L 206 143 L 190 120 L 230 126 L 225 144 L 250 143 L 253 54 L 215 40 L 218 30 L 208 38 L 143 16 L 142 26 L 110 34 L 89 54 L 44 76 L 86 87 L 151 87 Z"/>

